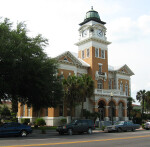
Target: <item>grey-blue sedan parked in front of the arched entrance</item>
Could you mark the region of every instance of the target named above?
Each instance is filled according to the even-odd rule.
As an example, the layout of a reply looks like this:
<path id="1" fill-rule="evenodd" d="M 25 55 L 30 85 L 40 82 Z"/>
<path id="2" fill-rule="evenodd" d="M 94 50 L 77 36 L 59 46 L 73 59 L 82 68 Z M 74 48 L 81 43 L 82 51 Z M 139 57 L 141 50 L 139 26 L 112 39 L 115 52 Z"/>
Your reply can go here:
<path id="1" fill-rule="evenodd" d="M 122 131 L 135 131 L 135 129 L 139 129 L 140 125 L 139 124 L 134 124 L 130 121 L 120 121 L 115 123 L 112 126 L 107 126 L 104 131 L 107 132 L 122 132 Z"/>

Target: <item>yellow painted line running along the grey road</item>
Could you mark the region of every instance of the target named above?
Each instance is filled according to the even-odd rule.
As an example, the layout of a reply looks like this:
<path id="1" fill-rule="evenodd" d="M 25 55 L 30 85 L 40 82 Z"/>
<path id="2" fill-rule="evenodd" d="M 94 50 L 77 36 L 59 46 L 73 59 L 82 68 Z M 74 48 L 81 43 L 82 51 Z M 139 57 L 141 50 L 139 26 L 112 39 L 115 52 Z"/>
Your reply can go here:
<path id="1" fill-rule="evenodd" d="M 75 141 L 75 142 L 58 142 L 58 143 L 47 143 L 47 144 L 11 145 L 11 146 L 0 146 L 0 147 L 48 146 L 48 145 L 74 144 L 74 143 L 86 143 L 86 142 L 99 142 L 99 141 L 110 141 L 110 140 L 122 140 L 122 139 L 146 138 L 146 137 L 150 137 L 150 135 L 145 135 L 145 136 L 134 136 L 134 137 L 124 137 L 124 138 L 110 138 L 110 139 L 100 139 L 100 140 Z"/>

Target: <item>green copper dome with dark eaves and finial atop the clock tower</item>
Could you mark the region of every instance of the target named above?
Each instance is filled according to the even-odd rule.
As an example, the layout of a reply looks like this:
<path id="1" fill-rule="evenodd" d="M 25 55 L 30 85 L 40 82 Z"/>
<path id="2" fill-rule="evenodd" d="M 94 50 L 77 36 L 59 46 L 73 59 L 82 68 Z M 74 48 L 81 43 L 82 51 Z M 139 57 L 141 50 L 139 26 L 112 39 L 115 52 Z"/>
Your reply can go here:
<path id="1" fill-rule="evenodd" d="M 106 24 L 106 22 L 101 21 L 98 12 L 93 10 L 93 7 L 91 7 L 91 10 L 86 13 L 84 21 L 82 23 L 80 23 L 79 25 L 84 25 L 85 23 L 87 23 L 91 20 L 99 22 L 101 24 Z"/>

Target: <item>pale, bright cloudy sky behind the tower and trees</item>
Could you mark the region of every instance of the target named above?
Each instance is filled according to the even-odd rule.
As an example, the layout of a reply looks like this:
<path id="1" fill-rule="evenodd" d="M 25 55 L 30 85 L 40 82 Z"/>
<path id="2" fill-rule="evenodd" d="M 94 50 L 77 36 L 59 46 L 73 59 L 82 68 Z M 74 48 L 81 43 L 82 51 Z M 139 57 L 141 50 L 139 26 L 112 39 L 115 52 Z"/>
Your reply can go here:
<path id="1" fill-rule="evenodd" d="M 127 64 L 134 72 L 131 96 L 150 90 L 150 1 L 149 0 L 0 0 L 0 17 L 14 26 L 25 22 L 30 36 L 49 40 L 45 52 L 55 57 L 78 52 L 79 23 L 93 6 L 106 22 L 108 64 Z"/>

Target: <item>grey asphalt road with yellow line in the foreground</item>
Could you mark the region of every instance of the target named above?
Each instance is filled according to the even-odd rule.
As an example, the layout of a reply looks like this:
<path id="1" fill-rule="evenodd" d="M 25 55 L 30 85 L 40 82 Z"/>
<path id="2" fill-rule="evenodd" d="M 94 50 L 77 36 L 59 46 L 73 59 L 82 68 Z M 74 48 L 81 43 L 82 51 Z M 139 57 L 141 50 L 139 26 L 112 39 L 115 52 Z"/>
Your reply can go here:
<path id="1" fill-rule="evenodd" d="M 150 147 L 150 130 L 135 132 L 104 133 L 94 132 L 81 135 L 58 135 L 52 131 L 47 134 L 34 133 L 28 137 L 0 138 L 0 147 Z"/>

